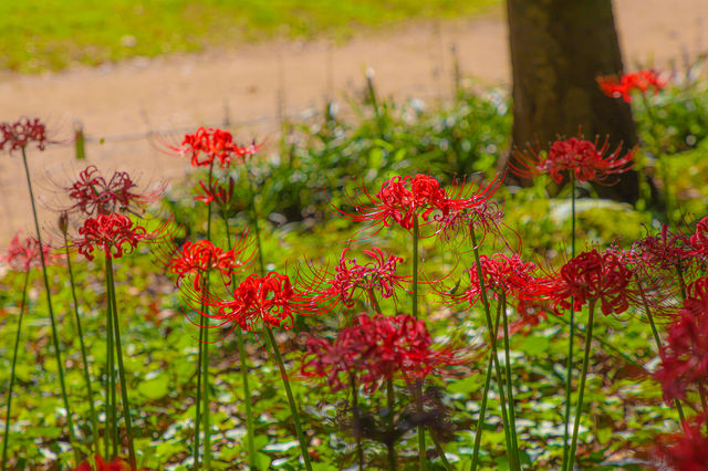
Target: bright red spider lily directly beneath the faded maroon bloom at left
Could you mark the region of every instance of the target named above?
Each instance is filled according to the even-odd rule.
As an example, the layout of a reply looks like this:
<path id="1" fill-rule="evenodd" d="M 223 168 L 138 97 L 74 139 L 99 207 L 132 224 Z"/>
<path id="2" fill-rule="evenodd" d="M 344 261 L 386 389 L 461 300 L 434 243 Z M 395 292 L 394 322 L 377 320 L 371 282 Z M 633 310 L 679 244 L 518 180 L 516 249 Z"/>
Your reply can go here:
<path id="1" fill-rule="evenodd" d="M 103 249 L 106 257 L 118 259 L 124 253 L 131 253 L 139 241 L 159 239 L 166 227 L 164 224 L 158 230 L 148 232 L 123 214 L 98 214 L 84 221 L 79 228 L 81 237 L 72 244 L 87 260 L 93 260 L 93 252 L 97 248 Z"/>

